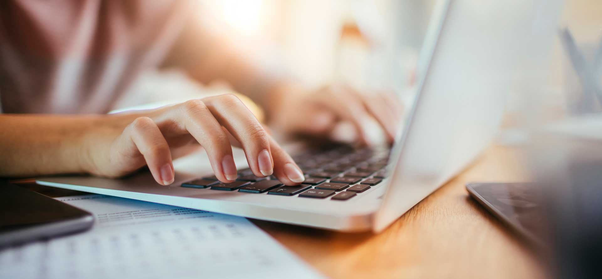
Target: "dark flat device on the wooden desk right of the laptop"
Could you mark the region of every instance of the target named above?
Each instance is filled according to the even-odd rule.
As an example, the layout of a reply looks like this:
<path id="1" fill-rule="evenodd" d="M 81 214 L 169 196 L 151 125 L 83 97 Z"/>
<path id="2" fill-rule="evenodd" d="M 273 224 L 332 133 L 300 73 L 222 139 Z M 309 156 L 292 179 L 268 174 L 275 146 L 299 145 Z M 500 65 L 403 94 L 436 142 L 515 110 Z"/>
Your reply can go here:
<path id="1" fill-rule="evenodd" d="M 548 248 L 548 222 L 535 183 L 468 183 L 470 195 L 535 248 Z"/>

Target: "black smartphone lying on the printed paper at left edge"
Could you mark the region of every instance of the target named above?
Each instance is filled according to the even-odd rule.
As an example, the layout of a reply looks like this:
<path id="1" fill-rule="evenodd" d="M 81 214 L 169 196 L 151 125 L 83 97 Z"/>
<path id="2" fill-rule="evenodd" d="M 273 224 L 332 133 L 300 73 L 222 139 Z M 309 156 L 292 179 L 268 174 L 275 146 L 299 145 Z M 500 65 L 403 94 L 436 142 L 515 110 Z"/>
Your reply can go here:
<path id="1" fill-rule="evenodd" d="M 0 180 L 0 248 L 84 231 L 94 216 Z"/>

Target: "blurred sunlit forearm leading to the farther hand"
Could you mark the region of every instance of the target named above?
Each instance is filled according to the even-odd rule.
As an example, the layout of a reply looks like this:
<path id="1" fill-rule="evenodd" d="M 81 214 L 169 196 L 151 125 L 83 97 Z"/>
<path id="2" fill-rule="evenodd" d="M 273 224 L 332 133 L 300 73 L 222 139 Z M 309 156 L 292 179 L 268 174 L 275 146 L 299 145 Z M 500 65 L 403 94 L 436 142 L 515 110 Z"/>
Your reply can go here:
<path id="1" fill-rule="evenodd" d="M 226 81 L 234 90 L 269 108 L 281 88 L 293 83 L 291 75 L 277 54 L 266 54 L 256 42 L 241 42 L 244 38 L 234 41 L 234 33 L 214 20 L 219 22 L 206 14 L 191 17 L 164 66 L 183 69 L 205 84 Z"/>

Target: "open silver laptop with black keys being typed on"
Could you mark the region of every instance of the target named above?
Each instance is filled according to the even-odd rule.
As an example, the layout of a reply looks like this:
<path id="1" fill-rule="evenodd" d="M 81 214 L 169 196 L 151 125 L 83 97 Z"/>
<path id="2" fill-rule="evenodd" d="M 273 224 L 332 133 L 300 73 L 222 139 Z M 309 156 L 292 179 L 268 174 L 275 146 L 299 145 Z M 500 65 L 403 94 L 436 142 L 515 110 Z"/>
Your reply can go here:
<path id="1" fill-rule="evenodd" d="M 382 231 L 489 145 L 504 96 L 514 89 L 521 62 L 533 55 L 520 49 L 547 36 L 534 35 L 530 26 L 550 1 L 433 3 L 416 97 L 392 147 L 291 151 L 307 176 L 297 187 L 245 169 L 237 182 L 220 183 L 202 153 L 176 160 L 169 186 L 146 172 L 123 179 L 45 177 L 37 183 L 329 230 Z M 553 37 L 554 26 L 549 33 Z M 244 155 L 235 154 L 237 165 L 246 165 Z"/>

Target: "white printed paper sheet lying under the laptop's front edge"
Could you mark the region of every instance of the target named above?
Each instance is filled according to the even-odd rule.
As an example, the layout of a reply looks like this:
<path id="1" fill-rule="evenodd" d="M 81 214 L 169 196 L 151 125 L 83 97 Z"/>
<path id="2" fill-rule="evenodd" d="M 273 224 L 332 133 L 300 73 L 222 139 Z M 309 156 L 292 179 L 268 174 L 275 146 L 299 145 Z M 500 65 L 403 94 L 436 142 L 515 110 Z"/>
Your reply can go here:
<path id="1" fill-rule="evenodd" d="M 246 218 L 105 195 L 57 198 L 84 233 L 0 251 L 0 278 L 322 278 Z"/>

